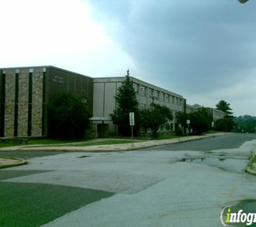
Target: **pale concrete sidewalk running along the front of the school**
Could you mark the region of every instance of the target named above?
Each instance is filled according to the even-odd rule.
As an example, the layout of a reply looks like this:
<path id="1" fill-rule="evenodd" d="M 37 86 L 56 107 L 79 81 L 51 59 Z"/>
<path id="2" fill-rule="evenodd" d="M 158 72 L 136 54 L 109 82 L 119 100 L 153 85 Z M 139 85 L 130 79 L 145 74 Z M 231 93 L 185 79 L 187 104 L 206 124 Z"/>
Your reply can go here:
<path id="1" fill-rule="evenodd" d="M 197 139 L 204 139 L 210 137 L 221 136 L 224 134 L 229 133 L 213 133 L 213 134 L 206 134 L 205 136 L 189 136 L 189 137 L 181 137 L 175 139 L 162 139 L 162 140 L 148 140 L 142 141 L 137 143 L 129 144 L 113 144 L 113 145 L 96 145 L 96 146 L 71 146 L 62 144 L 61 146 L 51 146 L 51 145 L 41 145 L 41 146 L 34 146 L 34 145 L 24 145 L 24 146 L 14 146 L 14 147 L 4 147 L 0 148 L 1 151 L 86 151 L 86 152 L 95 152 L 95 151 L 131 151 L 137 150 L 147 147 L 154 147 L 154 146 L 162 146 L 174 143 L 181 143 L 185 141 L 197 140 Z"/>

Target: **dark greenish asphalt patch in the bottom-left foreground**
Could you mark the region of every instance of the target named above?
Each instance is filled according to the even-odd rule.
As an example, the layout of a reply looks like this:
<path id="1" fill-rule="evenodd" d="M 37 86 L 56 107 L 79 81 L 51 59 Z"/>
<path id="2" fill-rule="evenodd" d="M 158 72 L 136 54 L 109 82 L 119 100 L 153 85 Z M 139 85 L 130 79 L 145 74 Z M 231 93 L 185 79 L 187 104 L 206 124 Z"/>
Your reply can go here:
<path id="1" fill-rule="evenodd" d="M 107 191 L 40 183 L 0 182 L 0 188 L 0 226 L 5 227 L 41 226 L 114 195 Z"/>

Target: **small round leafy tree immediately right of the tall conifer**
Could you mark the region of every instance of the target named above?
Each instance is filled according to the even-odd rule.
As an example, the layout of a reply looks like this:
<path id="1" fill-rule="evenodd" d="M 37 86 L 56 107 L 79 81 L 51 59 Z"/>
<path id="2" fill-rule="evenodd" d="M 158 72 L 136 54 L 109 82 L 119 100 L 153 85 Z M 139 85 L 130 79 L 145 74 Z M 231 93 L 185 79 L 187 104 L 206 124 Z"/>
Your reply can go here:
<path id="1" fill-rule="evenodd" d="M 150 109 L 141 111 L 141 126 L 145 129 L 151 129 L 154 138 L 159 136 L 160 126 L 172 120 L 172 112 L 165 105 L 156 103 L 150 104 Z"/>

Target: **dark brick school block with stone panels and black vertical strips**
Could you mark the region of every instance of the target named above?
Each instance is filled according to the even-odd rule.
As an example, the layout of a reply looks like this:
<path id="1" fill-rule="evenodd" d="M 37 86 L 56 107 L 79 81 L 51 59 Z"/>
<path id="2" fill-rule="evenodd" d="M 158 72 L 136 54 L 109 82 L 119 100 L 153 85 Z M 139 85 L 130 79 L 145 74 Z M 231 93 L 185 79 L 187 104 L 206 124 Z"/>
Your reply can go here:
<path id="1" fill-rule="evenodd" d="M 83 95 L 92 111 L 91 77 L 53 66 L 1 68 L 0 137 L 46 136 L 46 104 L 61 90 Z"/>

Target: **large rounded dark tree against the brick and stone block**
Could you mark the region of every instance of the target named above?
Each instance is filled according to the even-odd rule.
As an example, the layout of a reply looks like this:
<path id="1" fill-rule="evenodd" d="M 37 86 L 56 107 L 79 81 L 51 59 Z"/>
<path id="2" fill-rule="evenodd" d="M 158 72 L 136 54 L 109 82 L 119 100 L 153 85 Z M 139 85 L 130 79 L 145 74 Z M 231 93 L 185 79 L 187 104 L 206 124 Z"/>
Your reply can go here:
<path id="1" fill-rule="evenodd" d="M 83 98 L 62 91 L 47 105 L 48 135 L 50 138 L 82 138 L 92 117 Z"/>

